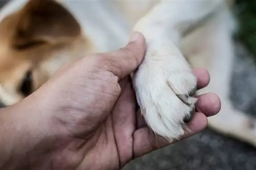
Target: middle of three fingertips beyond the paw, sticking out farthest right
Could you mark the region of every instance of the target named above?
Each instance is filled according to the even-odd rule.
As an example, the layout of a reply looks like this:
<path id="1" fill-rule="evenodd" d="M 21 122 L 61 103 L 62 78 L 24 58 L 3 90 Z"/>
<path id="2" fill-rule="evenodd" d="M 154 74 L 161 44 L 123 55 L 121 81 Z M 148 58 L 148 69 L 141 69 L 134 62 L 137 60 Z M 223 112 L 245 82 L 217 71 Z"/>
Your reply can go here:
<path id="1" fill-rule="evenodd" d="M 197 96 L 196 109 L 206 116 L 217 114 L 221 109 L 221 100 L 215 93 L 205 93 Z"/>

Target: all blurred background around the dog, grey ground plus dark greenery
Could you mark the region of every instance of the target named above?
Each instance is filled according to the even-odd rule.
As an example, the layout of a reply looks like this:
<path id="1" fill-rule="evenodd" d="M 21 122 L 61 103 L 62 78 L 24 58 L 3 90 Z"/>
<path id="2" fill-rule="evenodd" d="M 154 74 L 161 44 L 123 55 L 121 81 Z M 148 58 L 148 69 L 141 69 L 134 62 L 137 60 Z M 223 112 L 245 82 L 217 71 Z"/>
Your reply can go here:
<path id="1" fill-rule="evenodd" d="M 0 0 L 0 7 L 7 1 Z M 230 98 L 237 109 L 256 116 L 256 1 L 237 0 L 234 12 L 241 29 L 236 35 L 237 53 L 233 63 L 236 69 L 233 69 Z M 123 168 L 132 169 L 253 170 L 256 169 L 256 149 L 206 129 Z"/>

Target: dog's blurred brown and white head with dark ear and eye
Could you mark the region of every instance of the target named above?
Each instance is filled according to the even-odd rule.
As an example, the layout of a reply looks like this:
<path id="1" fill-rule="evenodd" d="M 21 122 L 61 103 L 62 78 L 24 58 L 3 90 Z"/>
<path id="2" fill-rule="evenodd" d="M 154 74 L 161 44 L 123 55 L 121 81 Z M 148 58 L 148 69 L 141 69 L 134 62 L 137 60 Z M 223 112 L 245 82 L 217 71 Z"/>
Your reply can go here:
<path id="1" fill-rule="evenodd" d="M 90 43 L 54 0 L 30 0 L 0 22 L 0 102 L 14 104 L 44 84 Z"/>

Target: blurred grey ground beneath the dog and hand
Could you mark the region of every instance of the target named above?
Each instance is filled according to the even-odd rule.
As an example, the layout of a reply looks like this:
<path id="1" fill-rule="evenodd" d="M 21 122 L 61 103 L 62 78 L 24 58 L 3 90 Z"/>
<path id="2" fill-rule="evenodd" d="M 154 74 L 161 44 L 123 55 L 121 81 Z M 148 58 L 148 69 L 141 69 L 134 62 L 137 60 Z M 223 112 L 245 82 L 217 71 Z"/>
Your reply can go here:
<path id="1" fill-rule="evenodd" d="M 0 0 L 0 7 L 4 2 L 6 0 Z M 256 116 L 256 67 L 240 48 L 234 68 L 230 97 L 238 109 Z M 175 145 L 138 158 L 123 169 L 253 170 L 256 169 L 256 149 L 206 129 Z"/>

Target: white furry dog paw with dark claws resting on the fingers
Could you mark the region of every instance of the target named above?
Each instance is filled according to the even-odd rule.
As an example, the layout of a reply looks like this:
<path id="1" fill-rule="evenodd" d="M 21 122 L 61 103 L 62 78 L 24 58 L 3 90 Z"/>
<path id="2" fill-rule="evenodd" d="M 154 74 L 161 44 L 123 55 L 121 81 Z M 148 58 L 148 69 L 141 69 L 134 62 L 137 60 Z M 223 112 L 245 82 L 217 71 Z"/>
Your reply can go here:
<path id="1" fill-rule="evenodd" d="M 195 113 L 197 80 L 183 56 L 148 55 L 133 79 L 137 101 L 148 127 L 173 141 Z"/>

